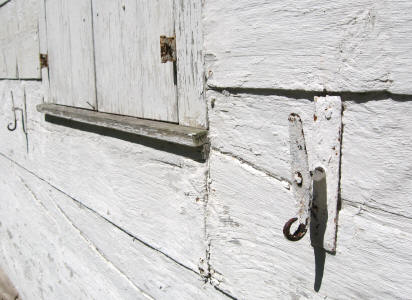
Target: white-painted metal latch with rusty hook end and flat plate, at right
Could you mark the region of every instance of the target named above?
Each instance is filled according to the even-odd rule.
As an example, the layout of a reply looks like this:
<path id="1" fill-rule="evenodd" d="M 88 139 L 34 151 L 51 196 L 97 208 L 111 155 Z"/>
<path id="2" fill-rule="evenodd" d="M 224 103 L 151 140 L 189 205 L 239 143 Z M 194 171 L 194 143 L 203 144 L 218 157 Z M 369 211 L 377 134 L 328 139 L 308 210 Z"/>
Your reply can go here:
<path id="1" fill-rule="evenodd" d="M 298 217 L 286 222 L 283 233 L 289 240 L 299 240 L 305 235 L 310 223 L 312 246 L 334 253 L 339 204 L 342 102 L 338 96 L 326 96 L 315 97 L 314 104 L 310 164 L 302 121 L 297 114 L 289 116 L 292 190 L 299 209 Z M 297 220 L 299 226 L 291 234 L 290 227 Z"/>

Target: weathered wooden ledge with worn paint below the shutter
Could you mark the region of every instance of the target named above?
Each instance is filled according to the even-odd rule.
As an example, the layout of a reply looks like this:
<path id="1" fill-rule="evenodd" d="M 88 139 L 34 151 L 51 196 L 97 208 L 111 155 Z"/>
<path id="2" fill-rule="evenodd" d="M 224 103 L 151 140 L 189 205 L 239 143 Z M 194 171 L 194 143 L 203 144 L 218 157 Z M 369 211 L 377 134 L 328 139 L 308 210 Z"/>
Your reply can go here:
<path id="1" fill-rule="evenodd" d="M 115 129 L 162 141 L 199 147 L 207 141 L 207 130 L 161 121 L 120 116 L 57 104 L 39 104 L 39 112 L 67 120 Z"/>

